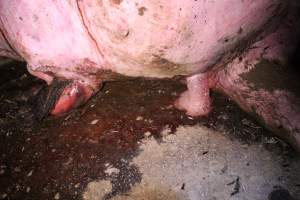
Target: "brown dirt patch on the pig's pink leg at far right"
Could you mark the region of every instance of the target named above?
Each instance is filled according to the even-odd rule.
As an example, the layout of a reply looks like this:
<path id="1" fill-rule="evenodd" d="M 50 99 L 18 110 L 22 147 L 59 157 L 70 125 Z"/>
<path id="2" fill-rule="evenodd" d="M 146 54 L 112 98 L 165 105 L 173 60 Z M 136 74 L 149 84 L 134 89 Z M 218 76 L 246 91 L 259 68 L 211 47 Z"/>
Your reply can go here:
<path id="1" fill-rule="evenodd" d="M 283 66 L 276 60 L 262 60 L 249 72 L 240 75 L 252 86 L 252 89 L 265 89 L 273 92 L 275 90 L 290 91 L 300 97 L 300 81 L 298 73 Z"/>

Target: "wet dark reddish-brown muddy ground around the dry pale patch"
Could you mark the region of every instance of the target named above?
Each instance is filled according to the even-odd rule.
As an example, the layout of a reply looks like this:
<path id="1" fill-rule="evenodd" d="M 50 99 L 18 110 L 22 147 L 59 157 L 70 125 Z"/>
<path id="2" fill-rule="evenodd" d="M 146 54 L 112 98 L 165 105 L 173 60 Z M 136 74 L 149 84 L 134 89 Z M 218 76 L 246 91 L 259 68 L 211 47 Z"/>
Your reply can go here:
<path id="1" fill-rule="evenodd" d="M 160 143 L 163 130 L 172 133 L 182 125 L 201 125 L 242 144 L 260 144 L 284 158 L 286 171 L 289 160 L 298 156 L 219 94 L 213 94 L 214 109 L 207 117 L 191 118 L 176 110 L 172 103 L 185 90 L 179 81 L 106 83 L 74 112 L 38 121 L 34 94 L 41 84 L 24 63 L 2 61 L 0 199 L 81 199 L 88 183 L 107 178 L 112 189 L 105 198 L 128 192 L 142 180 L 138 167 L 130 164 L 141 152 L 142 139 L 151 135 Z M 294 186 L 300 188 L 300 182 Z"/>

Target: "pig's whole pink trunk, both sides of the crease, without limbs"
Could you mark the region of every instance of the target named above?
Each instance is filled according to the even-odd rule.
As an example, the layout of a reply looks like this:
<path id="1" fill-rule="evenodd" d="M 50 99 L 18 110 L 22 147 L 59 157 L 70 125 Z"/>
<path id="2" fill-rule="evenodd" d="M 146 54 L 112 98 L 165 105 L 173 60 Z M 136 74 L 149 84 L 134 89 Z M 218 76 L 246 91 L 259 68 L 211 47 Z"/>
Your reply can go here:
<path id="1" fill-rule="evenodd" d="M 207 71 L 272 27 L 286 2 L 0 0 L 0 29 L 34 75 L 95 85 L 103 70 L 157 78 Z"/>

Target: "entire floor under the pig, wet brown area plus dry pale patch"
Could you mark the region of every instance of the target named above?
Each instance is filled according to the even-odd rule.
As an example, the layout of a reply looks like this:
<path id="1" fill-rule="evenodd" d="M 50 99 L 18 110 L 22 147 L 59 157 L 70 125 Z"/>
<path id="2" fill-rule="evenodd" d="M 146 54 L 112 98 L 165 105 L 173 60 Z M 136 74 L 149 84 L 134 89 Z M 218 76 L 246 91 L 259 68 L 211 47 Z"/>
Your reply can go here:
<path id="1" fill-rule="evenodd" d="M 218 94 L 191 118 L 172 106 L 179 81 L 114 82 L 37 121 L 40 85 L 0 65 L 0 199 L 300 199 L 300 156 Z"/>

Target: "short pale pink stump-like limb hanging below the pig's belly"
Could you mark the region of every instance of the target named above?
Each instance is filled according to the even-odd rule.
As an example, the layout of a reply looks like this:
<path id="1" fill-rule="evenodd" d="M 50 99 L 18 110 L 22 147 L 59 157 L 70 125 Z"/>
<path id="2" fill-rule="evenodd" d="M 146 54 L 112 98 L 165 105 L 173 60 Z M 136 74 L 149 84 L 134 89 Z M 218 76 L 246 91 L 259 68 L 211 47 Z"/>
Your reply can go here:
<path id="1" fill-rule="evenodd" d="M 175 107 L 186 110 L 190 116 L 207 115 L 211 111 L 209 79 L 207 74 L 198 74 L 187 78 L 188 90 L 181 94 L 175 102 Z"/>

